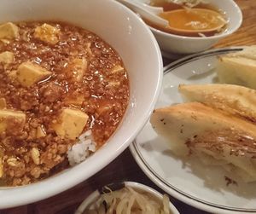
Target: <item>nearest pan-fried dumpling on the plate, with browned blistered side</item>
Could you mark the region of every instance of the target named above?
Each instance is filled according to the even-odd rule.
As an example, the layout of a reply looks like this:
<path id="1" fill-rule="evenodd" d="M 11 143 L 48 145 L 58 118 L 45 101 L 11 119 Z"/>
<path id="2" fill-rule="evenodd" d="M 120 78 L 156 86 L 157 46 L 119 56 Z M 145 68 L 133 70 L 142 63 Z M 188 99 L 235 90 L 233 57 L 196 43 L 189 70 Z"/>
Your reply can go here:
<path id="1" fill-rule="evenodd" d="M 199 102 L 154 110 L 150 123 L 178 156 L 221 165 L 245 182 L 256 181 L 256 126 Z"/>

